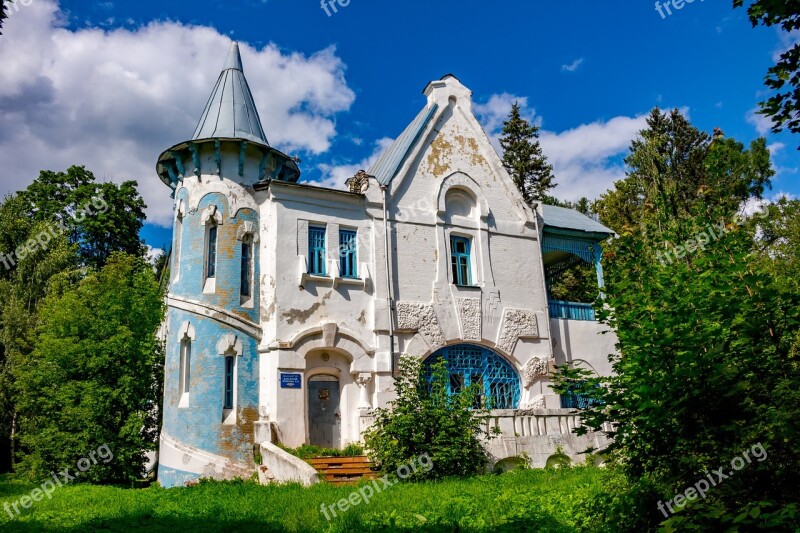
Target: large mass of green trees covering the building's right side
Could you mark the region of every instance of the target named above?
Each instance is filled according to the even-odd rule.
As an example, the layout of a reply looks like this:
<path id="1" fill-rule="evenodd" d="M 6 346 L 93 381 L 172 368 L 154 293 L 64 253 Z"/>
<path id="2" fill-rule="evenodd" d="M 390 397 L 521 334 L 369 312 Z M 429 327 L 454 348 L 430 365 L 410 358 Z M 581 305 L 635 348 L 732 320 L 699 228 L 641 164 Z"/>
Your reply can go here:
<path id="1" fill-rule="evenodd" d="M 719 133 L 706 141 L 677 115 L 663 118 L 651 115 L 630 174 L 598 202 L 601 214 L 628 224 L 607 250 L 599 311 L 619 337 L 615 375 L 562 369 L 557 380 L 559 391 L 595 400 L 585 428 L 614 424 L 606 452 L 624 482 L 592 502 L 589 527 L 653 529 L 666 519 L 659 501 L 757 444 L 768 460 L 747 464 L 669 525 L 786 527 L 800 499 L 800 287 L 757 240 L 767 223 L 737 217 L 769 185 L 766 147 L 759 140 L 744 150 Z M 788 227 L 773 233 L 790 237 Z"/>

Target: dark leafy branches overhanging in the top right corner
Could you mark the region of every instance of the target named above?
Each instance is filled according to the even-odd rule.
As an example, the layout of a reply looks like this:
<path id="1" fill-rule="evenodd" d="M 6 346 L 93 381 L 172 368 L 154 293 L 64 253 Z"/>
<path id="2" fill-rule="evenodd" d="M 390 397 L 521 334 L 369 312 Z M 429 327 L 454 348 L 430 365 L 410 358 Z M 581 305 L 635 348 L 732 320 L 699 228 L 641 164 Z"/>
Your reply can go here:
<path id="1" fill-rule="evenodd" d="M 734 7 L 745 5 L 744 0 L 734 0 Z M 747 2 L 747 14 L 753 26 L 778 26 L 785 32 L 800 29 L 800 6 L 784 0 L 756 0 Z M 770 67 L 764 81 L 773 92 L 760 103 L 759 113 L 772 118 L 773 131 L 788 129 L 800 132 L 800 43 L 794 42 Z"/>

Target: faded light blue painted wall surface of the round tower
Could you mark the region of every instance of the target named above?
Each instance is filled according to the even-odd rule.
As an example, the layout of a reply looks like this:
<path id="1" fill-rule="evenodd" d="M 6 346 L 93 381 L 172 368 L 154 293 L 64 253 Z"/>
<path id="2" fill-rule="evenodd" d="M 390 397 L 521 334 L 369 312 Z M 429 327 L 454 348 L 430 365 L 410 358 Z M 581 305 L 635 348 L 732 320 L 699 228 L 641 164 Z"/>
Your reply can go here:
<path id="1" fill-rule="evenodd" d="M 251 222 L 258 232 L 258 214 L 243 209 L 231 218 L 225 195 L 209 193 L 196 208 L 191 208 L 188 191 L 183 188 L 176 201 L 183 201 L 186 212 L 180 231 L 180 250 L 173 268 L 179 269 L 177 279 L 170 287 L 170 295 L 204 305 L 224 309 L 246 320 L 258 323 L 260 277 L 258 244 L 253 250 L 252 307 L 243 307 L 240 297 L 242 243 L 237 239 L 245 222 Z M 203 212 L 215 205 L 223 217 L 218 226 L 216 290 L 203 293 L 204 253 L 206 227 Z M 178 232 L 176 231 L 176 238 Z M 189 404 L 179 407 L 181 325 L 191 323 L 195 332 L 192 342 Z M 213 318 L 170 307 L 167 312 L 167 339 L 165 361 L 164 421 L 163 431 L 181 444 L 226 457 L 236 463 L 253 465 L 253 423 L 258 420 L 258 339 Z M 235 335 L 242 345 L 237 358 L 236 423 L 223 423 L 225 357 L 219 353 L 218 343 L 228 334 Z M 163 486 L 181 485 L 186 480 L 199 477 L 174 468 L 159 467 L 159 481 Z"/>

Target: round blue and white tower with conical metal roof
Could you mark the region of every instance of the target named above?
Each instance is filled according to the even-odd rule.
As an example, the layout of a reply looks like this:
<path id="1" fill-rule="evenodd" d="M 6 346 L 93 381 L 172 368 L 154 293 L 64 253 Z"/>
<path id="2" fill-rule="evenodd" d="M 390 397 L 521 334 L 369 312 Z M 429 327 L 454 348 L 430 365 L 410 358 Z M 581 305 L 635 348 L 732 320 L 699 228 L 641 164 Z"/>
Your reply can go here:
<path id="1" fill-rule="evenodd" d="M 158 478 L 249 477 L 267 226 L 257 189 L 300 170 L 267 141 L 237 43 L 191 140 L 164 151 L 157 172 L 175 201 Z"/>

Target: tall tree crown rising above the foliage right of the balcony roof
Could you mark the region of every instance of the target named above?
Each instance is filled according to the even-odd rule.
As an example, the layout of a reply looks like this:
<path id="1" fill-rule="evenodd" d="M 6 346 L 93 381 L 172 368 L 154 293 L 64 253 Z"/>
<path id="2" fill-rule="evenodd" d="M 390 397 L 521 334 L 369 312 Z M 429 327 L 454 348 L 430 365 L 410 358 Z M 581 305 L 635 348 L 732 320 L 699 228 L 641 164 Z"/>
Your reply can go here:
<path id="1" fill-rule="evenodd" d="M 764 139 L 745 150 L 719 130 L 713 138 L 699 131 L 677 109 L 652 110 L 625 163 L 627 176 L 592 206 L 603 224 L 622 234 L 641 232 L 648 220 L 691 216 L 701 198 L 735 212 L 760 197 L 774 174 Z"/>

